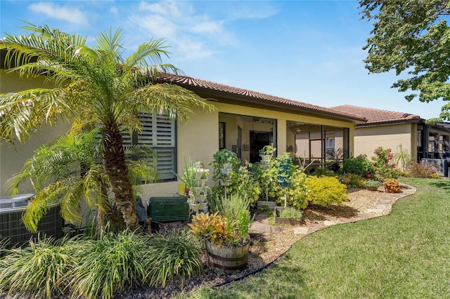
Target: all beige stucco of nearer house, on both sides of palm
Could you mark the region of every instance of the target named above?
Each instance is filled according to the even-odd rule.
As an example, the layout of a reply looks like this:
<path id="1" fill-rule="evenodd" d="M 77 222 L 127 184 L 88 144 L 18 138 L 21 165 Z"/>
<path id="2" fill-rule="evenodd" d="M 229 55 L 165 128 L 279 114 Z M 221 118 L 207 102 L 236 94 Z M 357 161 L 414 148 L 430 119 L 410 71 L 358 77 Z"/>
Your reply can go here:
<path id="1" fill-rule="evenodd" d="M 6 74 L 2 69 L 1 93 L 24 90 L 25 88 L 49 87 L 44 79 L 23 80 L 16 74 Z M 188 124 L 177 126 L 177 169 L 178 173 L 184 171 L 185 158 L 193 161 L 201 161 L 205 168 L 210 168 L 212 156 L 219 150 L 219 121 L 226 122 L 226 148 L 231 150 L 232 145 L 236 145 L 238 127 L 242 129 L 242 145 L 248 144 L 250 130 L 269 131 L 275 128 L 274 138 L 278 154 L 283 154 L 290 146 L 295 147 L 295 133 L 290 131 L 288 122 L 302 122 L 324 126 L 335 126 L 349 129 L 349 151 L 353 152 L 354 123 L 352 121 L 338 121 L 329 117 L 311 117 L 302 114 L 278 112 L 270 109 L 261 109 L 240 105 L 225 104 L 222 102 L 211 103 L 217 108 L 214 112 L 206 112 L 200 109 L 195 110 Z M 274 120 L 274 124 L 255 124 L 246 121 L 248 117 L 259 117 Z M 220 119 L 219 119 L 220 118 Z M 68 124 L 44 127 L 41 132 L 34 135 L 27 141 L 26 145 L 17 145 L 16 149 L 12 145 L 0 147 L 0 194 L 6 195 L 4 183 L 11 175 L 18 173 L 26 159 L 29 159 L 39 145 L 50 142 L 58 135 L 68 129 Z M 4 140 L 3 140 L 4 141 Z M 241 145 L 241 146 L 242 146 Z M 248 151 L 242 152 L 242 159 L 248 160 Z M 213 182 L 210 181 L 212 187 Z M 143 199 L 150 197 L 173 196 L 179 190 L 179 182 L 160 182 L 141 186 Z M 20 190 L 20 192 L 31 192 L 32 190 Z"/>

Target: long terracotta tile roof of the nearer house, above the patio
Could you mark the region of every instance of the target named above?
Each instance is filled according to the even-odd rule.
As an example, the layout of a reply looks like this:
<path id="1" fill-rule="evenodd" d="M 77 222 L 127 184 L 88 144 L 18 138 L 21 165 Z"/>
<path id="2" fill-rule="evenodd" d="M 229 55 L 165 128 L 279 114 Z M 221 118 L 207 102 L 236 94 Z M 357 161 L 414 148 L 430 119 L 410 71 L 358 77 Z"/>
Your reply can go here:
<path id="1" fill-rule="evenodd" d="M 297 102 L 295 100 L 288 100 L 285 98 L 276 97 L 274 95 L 267 95 L 265 93 L 258 93 L 256 91 L 249 91 L 243 88 L 237 88 L 233 86 L 228 86 L 224 84 L 214 83 L 212 81 L 205 81 L 201 79 L 195 79 L 192 77 L 175 75 L 175 74 L 163 74 L 160 81 L 164 81 L 171 84 L 177 84 L 183 86 L 187 89 L 200 88 L 204 90 L 205 93 L 208 91 L 216 91 L 222 94 L 222 96 L 233 97 L 233 95 L 238 96 L 237 100 L 246 100 L 246 102 L 252 102 L 255 105 L 271 105 L 271 106 L 283 106 L 285 109 L 291 109 L 294 111 L 309 112 L 310 114 L 326 114 L 328 117 L 335 117 L 338 119 L 347 119 L 354 121 L 356 123 L 364 123 L 366 119 L 360 117 L 359 115 L 352 114 L 350 112 L 344 112 L 339 110 L 334 110 L 326 107 L 321 107 L 317 105 L 311 105 L 306 102 Z M 235 98 L 236 100 L 236 96 Z"/>

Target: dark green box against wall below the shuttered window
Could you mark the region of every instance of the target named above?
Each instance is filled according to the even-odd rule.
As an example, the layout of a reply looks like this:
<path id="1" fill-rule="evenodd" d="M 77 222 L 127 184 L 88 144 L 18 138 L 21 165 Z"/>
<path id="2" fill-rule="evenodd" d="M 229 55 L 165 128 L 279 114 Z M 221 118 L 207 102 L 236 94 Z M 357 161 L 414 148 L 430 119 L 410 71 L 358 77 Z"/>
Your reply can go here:
<path id="1" fill-rule="evenodd" d="M 186 197 L 150 197 L 147 207 L 152 222 L 189 220 L 189 204 Z"/>

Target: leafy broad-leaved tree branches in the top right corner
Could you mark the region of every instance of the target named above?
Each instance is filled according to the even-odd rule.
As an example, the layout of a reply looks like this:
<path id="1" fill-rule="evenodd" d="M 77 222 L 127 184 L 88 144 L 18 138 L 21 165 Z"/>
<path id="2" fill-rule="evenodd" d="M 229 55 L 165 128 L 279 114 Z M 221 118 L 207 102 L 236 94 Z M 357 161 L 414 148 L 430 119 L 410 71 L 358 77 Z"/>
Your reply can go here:
<path id="1" fill-rule="evenodd" d="M 450 16 L 448 0 L 361 0 L 363 18 L 373 20 L 367 39 L 369 72 L 394 69 L 399 79 L 392 87 L 412 91 L 406 100 L 450 100 Z M 417 91 L 418 93 L 414 93 Z M 439 116 L 450 120 L 450 103 Z"/>

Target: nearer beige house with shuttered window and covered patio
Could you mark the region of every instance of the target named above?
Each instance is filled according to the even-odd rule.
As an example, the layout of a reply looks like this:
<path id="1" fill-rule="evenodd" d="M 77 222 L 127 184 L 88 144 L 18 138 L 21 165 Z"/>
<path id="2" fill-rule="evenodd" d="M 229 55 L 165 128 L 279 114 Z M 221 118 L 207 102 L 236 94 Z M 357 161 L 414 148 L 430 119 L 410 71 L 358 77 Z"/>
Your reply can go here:
<path id="1" fill-rule="evenodd" d="M 134 138 L 125 134 L 126 143 L 150 145 L 158 157 L 161 180 L 142 185 L 146 199 L 172 196 L 179 190 L 174 173 L 184 171 L 185 158 L 201 161 L 208 168 L 213 154 L 223 148 L 236 152 L 242 161 L 250 162 L 259 160 L 258 151 L 264 145 L 276 147 L 277 154 L 290 152 L 293 157 L 307 157 L 323 163 L 335 159 L 335 152 L 348 157 L 354 152 L 355 125 L 366 121 L 349 112 L 186 76 L 165 74 L 160 81 L 187 88 L 212 102 L 217 109 L 214 112 L 195 110 L 184 126 L 157 114 L 142 114 L 143 132 Z M 44 79 L 20 79 L 17 74 L 0 69 L 0 93 L 46 84 Z M 6 180 L 20 171 L 33 151 L 68 128 L 69 124 L 64 122 L 44 126 L 25 145 L 13 146 L 1 140 L 0 196 L 7 195 Z M 24 188 L 20 192 L 32 190 Z"/>

